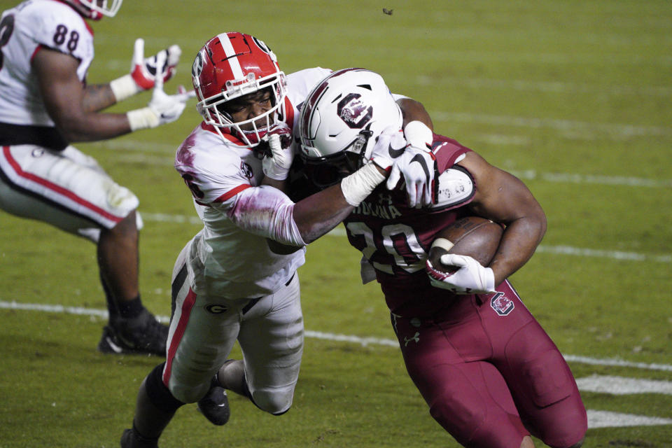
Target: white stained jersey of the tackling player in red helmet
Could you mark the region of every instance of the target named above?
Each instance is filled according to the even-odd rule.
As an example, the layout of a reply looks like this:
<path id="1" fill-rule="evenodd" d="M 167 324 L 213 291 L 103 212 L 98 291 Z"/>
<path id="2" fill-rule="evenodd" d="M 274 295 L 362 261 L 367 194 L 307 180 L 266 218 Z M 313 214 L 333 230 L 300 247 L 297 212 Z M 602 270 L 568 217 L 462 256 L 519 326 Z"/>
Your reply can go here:
<path id="1" fill-rule="evenodd" d="M 287 76 L 286 123 L 294 130 L 299 118 L 297 106 L 328 73 L 330 70 L 315 68 Z M 279 221 L 284 218 L 272 213 L 260 216 L 260 210 L 268 210 L 275 202 L 286 205 L 290 200 L 279 190 L 260 186 L 262 164 L 251 148 L 241 146 L 234 137 L 224 143 L 212 127 L 201 123 L 178 149 L 175 168 L 192 191 L 197 214 L 204 223 L 188 254 L 196 293 L 232 299 L 268 295 L 279 290 L 303 265 L 305 248 L 289 255 L 268 248 L 266 237 L 273 228 L 281 228 Z M 253 193 L 253 200 L 247 196 L 244 203 L 239 201 L 243 191 L 245 195 Z M 255 210 L 256 200 L 259 209 Z M 250 216 L 244 219 L 264 218 L 264 225 L 270 229 L 244 230 L 231 218 L 238 214 Z"/>

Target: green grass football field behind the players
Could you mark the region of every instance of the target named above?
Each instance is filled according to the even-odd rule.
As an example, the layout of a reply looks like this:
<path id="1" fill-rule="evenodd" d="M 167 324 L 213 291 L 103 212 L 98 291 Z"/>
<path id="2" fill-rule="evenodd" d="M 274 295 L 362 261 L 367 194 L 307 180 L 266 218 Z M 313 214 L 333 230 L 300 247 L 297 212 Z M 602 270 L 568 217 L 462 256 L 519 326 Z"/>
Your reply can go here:
<path id="1" fill-rule="evenodd" d="M 167 90 L 190 85 L 202 44 L 244 31 L 286 73 L 363 66 L 419 99 L 437 132 L 519 176 L 547 213 L 513 281 L 580 382 L 584 447 L 672 447 L 670 1 L 127 0 L 94 29 L 90 83 L 126 73 L 141 36 L 148 54 L 179 43 Z M 171 125 L 78 144 L 140 198 L 142 297 L 161 316 L 174 259 L 200 229 L 172 168 L 200 121 L 194 104 Z M 92 244 L 7 214 L 0 230 L 0 448 L 118 447 L 160 360 L 95 350 L 105 318 Z M 386 307 L 376 285 L 360 284 L 359 257 L 342 230 L 309 246 L 299 272 L 309 331 L 288 414 L 232 396 L 230 423 L 216 428 L 188 405 L 161 446 L 457 447 L 386 343 Z"/>

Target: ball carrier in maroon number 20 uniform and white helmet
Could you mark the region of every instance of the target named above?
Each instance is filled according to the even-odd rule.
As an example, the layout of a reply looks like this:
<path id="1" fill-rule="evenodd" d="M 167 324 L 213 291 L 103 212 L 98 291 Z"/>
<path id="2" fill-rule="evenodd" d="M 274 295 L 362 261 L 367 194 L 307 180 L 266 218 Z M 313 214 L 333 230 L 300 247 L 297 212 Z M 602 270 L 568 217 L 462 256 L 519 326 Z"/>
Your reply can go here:
<path id="1" fill-rule="evenodd" d="M 308 94 L 300 154 L 317 190 L 358 169 L 376 137 L 377 146 L 388 142 L 395 167 L 426 169 L 425 159 L 399 151 L 406 142 L 398 120 L 378 107 L 370 73 L 336 71 Z M 391 125 L 384 132 L 381 120 Z M 419 132 L 425 145 L 416 147 L 437 161 L 435 203 L 408 207 L 402 189 L 379 186 L 344 220 L 363 253 L 363 279 L 380 283 L 410 377 L 433 418 L 464 446 L 530 448 L 534 435 L 554 448 L 580 447 L 587 416 L 573 375 L 507 280 L 545 233 L 540 204 L 519 179 L 469 148 L 426 127 Z M 388 186 L 397 180 L 393 169 Z M 505 226 L 493 260 L 482 266 L 443 255 L 458 269 L 436 274 L 427 263 L 435 235 L 471 215 Z"/>

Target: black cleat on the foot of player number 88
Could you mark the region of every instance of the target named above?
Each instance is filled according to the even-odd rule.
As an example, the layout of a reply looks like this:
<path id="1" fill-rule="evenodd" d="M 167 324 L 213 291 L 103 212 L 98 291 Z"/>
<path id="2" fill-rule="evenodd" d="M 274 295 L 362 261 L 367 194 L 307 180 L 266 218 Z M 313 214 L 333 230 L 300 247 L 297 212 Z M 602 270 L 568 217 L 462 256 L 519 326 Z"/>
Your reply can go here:
<path id="1" fill-rule="evenodd" d="M 145 353 L 166 356 L 168 327 L 146 309 L 132 319 L 114 318 L 103 328 L 98 350 L 103 353 Z"/>

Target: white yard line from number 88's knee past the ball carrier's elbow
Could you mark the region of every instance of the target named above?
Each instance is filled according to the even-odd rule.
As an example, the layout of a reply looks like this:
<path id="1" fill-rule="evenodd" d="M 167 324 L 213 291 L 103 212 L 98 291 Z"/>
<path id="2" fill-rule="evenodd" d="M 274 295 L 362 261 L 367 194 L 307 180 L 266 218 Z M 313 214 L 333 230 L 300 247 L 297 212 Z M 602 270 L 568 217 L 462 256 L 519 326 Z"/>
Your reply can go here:
<path id="1" fill-rule="evenodd" d="M 200 218 L 196 216 L 169 215 L 161 213 L 144 213 L 142 218 L 146 221 L 158 221 L 160 223 L 190 223 L 201 224 Z M 327 234 L 330 237 L 345 237 L 345 230 L 337 227 Z M 672 255 L 649 255 L 646 253 L 622 252 L 622 251 L 602 251 L 598 249 L 579 248 L 572 246 L 538 246 L 537 252 L 556 253 L 559 255 L 576 255 L 580 257 L 612 258 L 613 260 L 627 261 L 655 261 L 661 263 L 672 262 Z"/>

